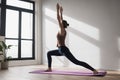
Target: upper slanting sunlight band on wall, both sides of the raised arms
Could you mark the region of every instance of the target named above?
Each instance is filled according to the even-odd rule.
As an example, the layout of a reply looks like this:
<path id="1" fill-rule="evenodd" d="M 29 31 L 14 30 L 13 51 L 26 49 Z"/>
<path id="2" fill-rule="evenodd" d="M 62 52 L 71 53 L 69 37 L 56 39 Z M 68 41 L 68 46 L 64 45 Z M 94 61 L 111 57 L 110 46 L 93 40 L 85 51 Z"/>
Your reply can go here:
<path id="1" fill-rule="evenodd" d="M 53 18 L 53 19 L 57 19 L 56 17 L 56 12 L 53 10 L 50 10 L 48 8 L 45 8 L 45 15 Z M 75 20 L 71 17 L 65 16 L 63 15 L 64 19 L 68 21 L 68 23 L 70 24 L 70 27 L 80 31 L 81 33 L 87 35 L 88 37 L 91 37 L 95 40 L 99 40 L 99 30 L 91 25 L 88 25 L 82 21 L 78 21 Z"/>

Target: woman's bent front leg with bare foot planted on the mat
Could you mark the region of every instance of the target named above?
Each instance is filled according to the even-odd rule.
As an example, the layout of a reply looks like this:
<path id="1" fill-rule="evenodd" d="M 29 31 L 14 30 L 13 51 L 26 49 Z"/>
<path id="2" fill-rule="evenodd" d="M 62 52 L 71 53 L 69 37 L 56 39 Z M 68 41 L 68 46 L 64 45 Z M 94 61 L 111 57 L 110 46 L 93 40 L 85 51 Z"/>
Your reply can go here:
<path id="1" fill-rule="evenodd" d="M 48 70 L 46 71 L 51 71 L 51 66 L 52 66 L 52 56 L 62 56 L 61 53 L 59 53 L 59 50 L 52 50 L 48 51 L 47 53 L 47 59 L 48 59 Z"/>

